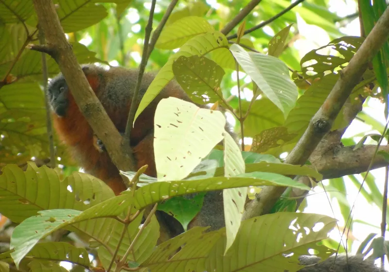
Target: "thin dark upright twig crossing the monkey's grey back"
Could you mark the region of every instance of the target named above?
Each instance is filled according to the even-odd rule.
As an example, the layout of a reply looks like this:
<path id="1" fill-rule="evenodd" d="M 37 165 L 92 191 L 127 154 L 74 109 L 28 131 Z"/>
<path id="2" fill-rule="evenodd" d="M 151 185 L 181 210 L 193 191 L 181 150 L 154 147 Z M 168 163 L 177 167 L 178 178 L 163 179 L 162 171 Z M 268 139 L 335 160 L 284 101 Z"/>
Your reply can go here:
<path id="1" fill-rule="evenodd" d="M 149 20 L 148 20 L 146 28 L 145 28 L 144 42 L 143 42 L 143 53 L 142 53 L 141 64 L 139 66 L 138 79 L 137 79 L 137 83 L 135 85 L 135 90 L 134 90 L 134 95 L 133 95 L 132 101 L 131 101 L 130 111 L 128 113 L 127 126 L 125 127 L 124 140 L 128 140 L 128 141 L 130 141 L 132 123 L 134 122 L 135 112 L 137 110 L 135 107 L 135 104 L 137 103 L 137 100 L 138 100 L 138 93 L 139 93 L 139 90 L 141 89 L 141 81 L 142 81 L 142 77 L 143 77 L 143 73 L 144 73 L 144 68 L 146 67 L 147 59 L 148 59 L 147 50 L 148 50 L 148 45 L 149 45 L 150 34 L 151 34 L 151 31 L 153 30 L 153 17 L 154 17 L 155 3 L 156 3 L 156 0 L 152 0 Z"/>

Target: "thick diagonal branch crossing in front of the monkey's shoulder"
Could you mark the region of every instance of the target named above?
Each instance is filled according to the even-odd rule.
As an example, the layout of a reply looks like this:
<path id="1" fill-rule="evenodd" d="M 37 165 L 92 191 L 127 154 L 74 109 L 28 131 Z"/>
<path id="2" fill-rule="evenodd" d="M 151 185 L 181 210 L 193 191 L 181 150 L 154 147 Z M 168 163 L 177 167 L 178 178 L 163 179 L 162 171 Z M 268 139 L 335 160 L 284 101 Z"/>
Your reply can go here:
<path id="1" fill-rule="evenodd" d="M 122 136 L 109 119 L 102 104 L 77 63 L 71 51 L 71 45 L 66 40 L 53 1 L 33 0 L 39 25 L 45 33 L 47 48 L 61 69 L 71 93 L 80 111 L 88 120 L 96 135 L 103 141 L 112 161 L 120 170 L 135 170 L 134 160 L 129 144 L 121 144 Z"/>

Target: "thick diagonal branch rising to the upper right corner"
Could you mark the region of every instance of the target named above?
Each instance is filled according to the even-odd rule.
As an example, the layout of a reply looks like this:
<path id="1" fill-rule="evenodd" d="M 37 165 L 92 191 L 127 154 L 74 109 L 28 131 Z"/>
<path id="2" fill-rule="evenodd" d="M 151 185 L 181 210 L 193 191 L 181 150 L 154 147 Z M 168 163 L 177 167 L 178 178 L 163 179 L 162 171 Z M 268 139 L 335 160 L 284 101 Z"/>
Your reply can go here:
<path id="1" fill-rule="evenodd" d="M 302 165 L 317 147 L 323 136 L 330 130 L 337 114 L 346 102 L 354 86 L 367 68 L 368 63 L 381 49 L 389 36 L 389 8 L 377 21 L 371 33 L 344 68 L 331 93 L 311 119 L 308 128 L 288 155 L 285 163 Z M 259 197 L 250 202 L 243 218 L 248 219 L 268 213 L 284 192 L 285 187 L 266 187 Z"/>

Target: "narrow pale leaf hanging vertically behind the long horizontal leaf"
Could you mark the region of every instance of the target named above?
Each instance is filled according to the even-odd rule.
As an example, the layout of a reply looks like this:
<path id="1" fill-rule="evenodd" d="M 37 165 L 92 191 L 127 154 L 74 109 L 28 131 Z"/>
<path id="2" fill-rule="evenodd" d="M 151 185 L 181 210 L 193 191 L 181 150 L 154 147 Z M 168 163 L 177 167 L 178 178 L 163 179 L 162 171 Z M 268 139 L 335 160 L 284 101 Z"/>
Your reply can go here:
<path id="1" fill-rule="evenodd" d="M 245 173 L 245 161 L 238 145 L 230 134 L 224 137 L 224 175 L 234 177 Z M 225 253 L 238 233 L 247 196 L 247 187 L 223 190 L 224 219 L 226 222 L 227 245 Z"/>

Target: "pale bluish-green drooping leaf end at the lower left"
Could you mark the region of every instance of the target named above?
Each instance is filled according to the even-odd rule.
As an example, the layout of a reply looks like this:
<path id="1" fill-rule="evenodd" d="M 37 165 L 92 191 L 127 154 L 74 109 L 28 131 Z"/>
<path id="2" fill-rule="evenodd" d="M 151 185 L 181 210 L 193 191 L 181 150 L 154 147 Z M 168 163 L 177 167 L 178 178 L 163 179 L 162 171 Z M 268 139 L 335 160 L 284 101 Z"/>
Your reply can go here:
<path id="1" fill-rule="evenodd" d="M 18 268 L 20 261 L 41 239 L 58 229 L 58 226 L 70 221 L 81 212 L 70 209 L 53 209 L 39 211 L 39 215 L 27 218 L 15 227 L 12 232 L 10 248 Z"/>

